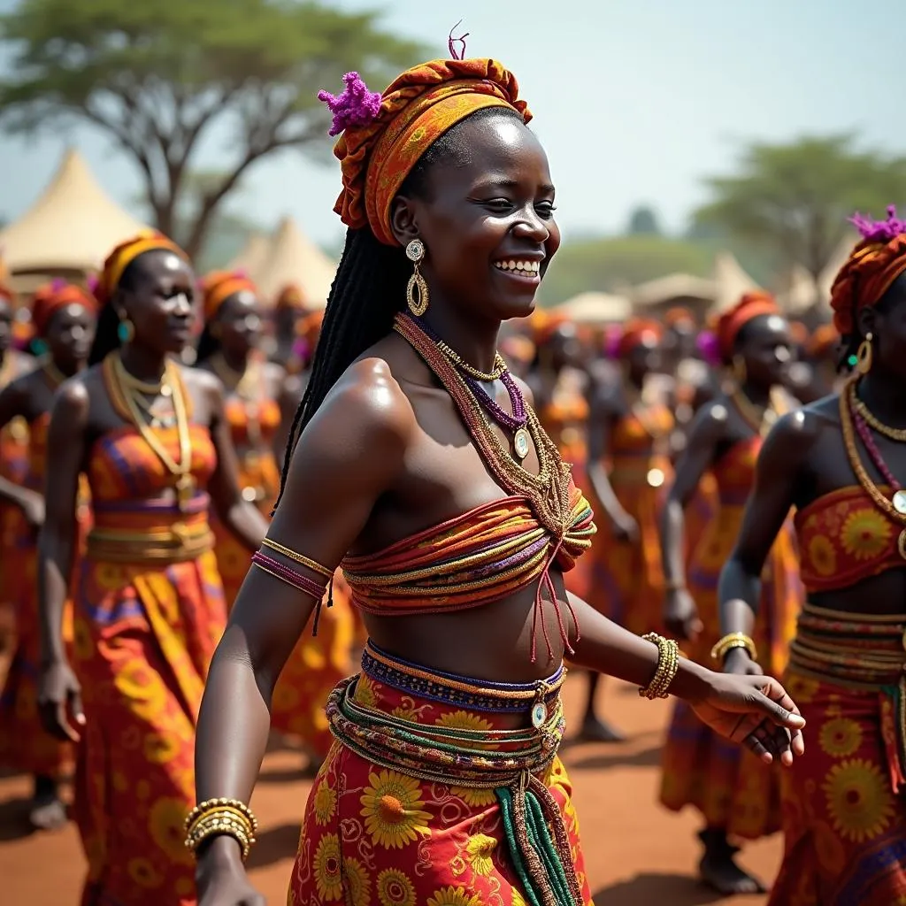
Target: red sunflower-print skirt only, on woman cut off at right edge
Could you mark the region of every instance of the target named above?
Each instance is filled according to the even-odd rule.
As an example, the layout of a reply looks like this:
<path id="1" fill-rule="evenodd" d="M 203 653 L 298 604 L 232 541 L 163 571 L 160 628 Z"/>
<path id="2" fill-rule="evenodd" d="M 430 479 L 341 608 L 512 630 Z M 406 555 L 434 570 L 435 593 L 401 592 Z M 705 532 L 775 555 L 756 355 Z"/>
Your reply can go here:
<path id="1" fill-rule="evenodd" d="M 889 648 L 906 661 L 903 630 L 906 623 L 896 627 Z M 877 628 L 871 632 L 876 648 Z M 822 638 L 826 645 L 833 636 Z M 834 672 L 864 673 L 866 656 L 847 647 L 850 658 L 838 658 Z M 795 642 L 785 685 L 807 721 L 806 750 L 782 772 L 784 860 L 769 906 L 906 904 L 902 668 L 899 683 L 892 676 L 891 685 L 859 688 L 803 669 L 799 651 Z M 841 667 L 844 660 L 849 664 Z"/>

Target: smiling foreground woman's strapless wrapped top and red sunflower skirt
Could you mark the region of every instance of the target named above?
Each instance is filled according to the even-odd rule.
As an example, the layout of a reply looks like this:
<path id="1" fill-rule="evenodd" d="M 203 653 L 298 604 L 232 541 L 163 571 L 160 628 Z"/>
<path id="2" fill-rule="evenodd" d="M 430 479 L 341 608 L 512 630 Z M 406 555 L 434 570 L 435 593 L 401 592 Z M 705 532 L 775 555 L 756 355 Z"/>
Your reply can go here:
<path id="1" fill-rule="evenodd" d="M 545 587 L 548 570 L 571 571 L 593 533 L 591 508 L 574 487 L 570 503 L 559 544 L 524 497 L 507 496 L 347 557 L 353 601 L 385 616 L 450 612 L 539 580 Z M 563 677 L 561 667 L 544 682 L 480 682 L 426 670 L 370 641 L 361 674 L 329 699 L 337 740 L 308 798 L 291 906 L 525 906 L 534 866 L 519 861 L 528 843 L 519 844 L 525 824 L 507 779 L 520 766 L 533 848 L 555 861 L 554 873 L 565 866 L 564 889 L 573 885 L 572 899 L 551 902 L 589 906 L 573 786 L 555 755 Z M 545 835 L 561 854 L 545 848 Z"/>

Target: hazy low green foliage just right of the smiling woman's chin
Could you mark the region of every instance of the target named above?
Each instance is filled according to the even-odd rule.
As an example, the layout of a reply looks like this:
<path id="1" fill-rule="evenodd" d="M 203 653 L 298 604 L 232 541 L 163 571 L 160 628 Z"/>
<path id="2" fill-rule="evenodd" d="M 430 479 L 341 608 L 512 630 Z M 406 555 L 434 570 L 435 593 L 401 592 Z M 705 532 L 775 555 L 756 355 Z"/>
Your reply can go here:
<path id="1" fill-rule="evenodd" d="M 668 274 L 710 274 L 713 254 L 707 246 L 667 236 L 615 236 L 567 242 L 541 284 L 545 304 L 596 290 L 618 293 L 627 285 Z"/>

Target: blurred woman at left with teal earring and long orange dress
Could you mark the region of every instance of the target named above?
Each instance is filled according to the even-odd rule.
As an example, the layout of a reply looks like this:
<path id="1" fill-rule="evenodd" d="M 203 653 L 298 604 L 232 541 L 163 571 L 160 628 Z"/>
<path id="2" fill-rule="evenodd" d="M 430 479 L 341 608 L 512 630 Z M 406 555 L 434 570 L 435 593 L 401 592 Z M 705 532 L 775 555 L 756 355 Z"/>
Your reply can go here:
<path id="1" fill-rule="evenodd" d="M 195 293 L 186 255 L 165 236 L 117 246 L 97 285 L 92 367 L 57 391 L 47 429 L 38 700 L 53 737 L 80 742 L 86 906 L 196 901 L 181 834 L 198 706 L 226 622 L 209 511 L 247 547 L 265 534 L 236 481 L 219 381 L 179 363 Z M 35 315 L 40 323 L 43 309 Z M 72 519 L 82 477 L 91 498 L 83 555 Z"/>

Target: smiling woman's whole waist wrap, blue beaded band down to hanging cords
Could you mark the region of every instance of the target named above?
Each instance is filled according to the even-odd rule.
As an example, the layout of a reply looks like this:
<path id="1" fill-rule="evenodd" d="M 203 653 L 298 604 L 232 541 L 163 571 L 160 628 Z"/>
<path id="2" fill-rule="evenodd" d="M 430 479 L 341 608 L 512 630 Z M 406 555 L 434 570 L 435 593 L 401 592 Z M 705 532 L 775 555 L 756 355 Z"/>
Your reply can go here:
<path id="1" fill-rule="evenodd" d="M 327 719 L 334 737 L 371 764 L 428 783 L 494 790 L 507 854 L 532 901 L 578 906 L 569 835 L 542 779 L 564 735 L 563 675 L 561 668 L 534 683 L 490 683 L 419 667 L 369 642 L 361 674 L 333 689 Z M 437 719 L 434 701 L 442 703 Z M 501 712 L 519 710 L 525 726 L 500 728 Z"/>

